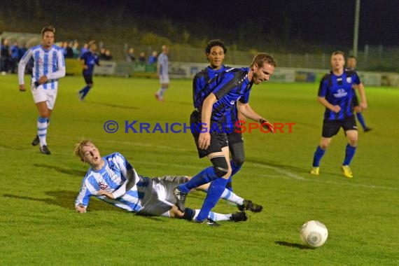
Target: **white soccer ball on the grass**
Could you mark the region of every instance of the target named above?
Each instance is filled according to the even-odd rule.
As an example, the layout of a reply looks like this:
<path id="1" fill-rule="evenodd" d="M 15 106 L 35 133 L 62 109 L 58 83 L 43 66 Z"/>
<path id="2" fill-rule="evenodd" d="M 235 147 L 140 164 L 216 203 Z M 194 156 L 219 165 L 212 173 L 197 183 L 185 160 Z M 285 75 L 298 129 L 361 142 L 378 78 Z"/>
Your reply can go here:
<path id="1" fill-rule="evenodd" d="M 319 221 L 309 221 L 304 223 L 300 229 L 300 238 L 302 239 L 302 242 L 312 248 L 323 246 L 327 237 L 328 230 L 325 225 Z"/>

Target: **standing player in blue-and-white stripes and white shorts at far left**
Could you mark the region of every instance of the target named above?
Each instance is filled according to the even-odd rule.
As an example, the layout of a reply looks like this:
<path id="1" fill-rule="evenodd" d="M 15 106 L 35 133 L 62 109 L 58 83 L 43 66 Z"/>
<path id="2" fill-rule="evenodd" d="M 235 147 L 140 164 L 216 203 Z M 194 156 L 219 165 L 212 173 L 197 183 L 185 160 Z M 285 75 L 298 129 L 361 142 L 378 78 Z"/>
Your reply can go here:
<path id="1" fill-rule="evenodd" d="M 40 144 L 41 153 L 50 155 L 46 136 L 52 109 L 57 98 L 58 79 L 65 76 L 65 59 L 62 50 L 54 45 L 55 28 L 44 27 L 41 30 L 42 43 L 29 48 L 18 65 L 20 91 L 25 92 L 25 67 L 33 59 L 31 92 L 38 109 L 37 135 L 32 145 Z"/>

